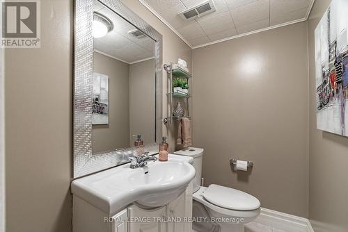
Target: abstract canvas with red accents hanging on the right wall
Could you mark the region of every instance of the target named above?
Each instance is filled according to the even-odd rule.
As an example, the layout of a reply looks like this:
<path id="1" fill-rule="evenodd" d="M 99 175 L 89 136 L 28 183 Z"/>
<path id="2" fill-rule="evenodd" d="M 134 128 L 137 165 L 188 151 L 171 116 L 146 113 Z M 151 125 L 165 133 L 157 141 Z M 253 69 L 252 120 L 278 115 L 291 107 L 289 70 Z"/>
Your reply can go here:
<path id="1" fill-rule="evenodd" d="M 333 0 L 315 29 L 317 129 L 348 136 L 348 1 Z"/>

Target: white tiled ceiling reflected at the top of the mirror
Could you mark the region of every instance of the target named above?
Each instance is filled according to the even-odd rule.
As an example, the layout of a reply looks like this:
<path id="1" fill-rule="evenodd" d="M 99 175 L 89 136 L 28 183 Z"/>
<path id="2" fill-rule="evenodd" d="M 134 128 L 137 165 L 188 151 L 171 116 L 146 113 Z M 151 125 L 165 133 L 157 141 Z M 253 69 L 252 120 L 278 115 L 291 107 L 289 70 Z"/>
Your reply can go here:
<path id="1" fill-rule="evenodd" d="M 126 63 L 134 63 L 155 56 L 155 42 L 148 38 L 135 38 L 129 31 L 136 28 L 99 2 L 94 2 L 94 11 L 108 17 L 113 30 L 102 38 L 94 38 L 94 49 Z"/>

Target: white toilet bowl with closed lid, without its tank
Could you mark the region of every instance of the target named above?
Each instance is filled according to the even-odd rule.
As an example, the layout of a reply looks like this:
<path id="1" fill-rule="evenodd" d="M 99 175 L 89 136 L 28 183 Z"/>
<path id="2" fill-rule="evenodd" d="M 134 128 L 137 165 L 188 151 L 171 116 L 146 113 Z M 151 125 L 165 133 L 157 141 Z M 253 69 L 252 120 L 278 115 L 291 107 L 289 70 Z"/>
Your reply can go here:
<path id="1" fill-rule="evenodd" d="M 223 196 L 226 194 L 229 194 L 228 198 Z M 206 218 L 207 222 L 216 225 L 216 229 L 212 230 L 212 226 L 193 222 L 193 229 L 196 231 L 242 232 L 244 224 L 253 222 L 258 215 L 260 201 L 246 192 L 209 185 L 208 188 L 202 186 L 193 193 L 193 217 Z"/>

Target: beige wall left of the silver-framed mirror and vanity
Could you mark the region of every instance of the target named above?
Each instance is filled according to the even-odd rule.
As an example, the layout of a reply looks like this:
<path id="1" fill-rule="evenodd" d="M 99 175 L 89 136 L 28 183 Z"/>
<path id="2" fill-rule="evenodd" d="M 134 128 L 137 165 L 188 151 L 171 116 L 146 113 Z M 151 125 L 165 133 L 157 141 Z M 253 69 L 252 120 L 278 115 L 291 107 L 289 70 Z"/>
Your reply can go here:
<path id="1" fill-rule="evenodd" d="M 41 1 L 41 48 L 6 49 L 6 231 L 71 231 L 72 0 Z"/>

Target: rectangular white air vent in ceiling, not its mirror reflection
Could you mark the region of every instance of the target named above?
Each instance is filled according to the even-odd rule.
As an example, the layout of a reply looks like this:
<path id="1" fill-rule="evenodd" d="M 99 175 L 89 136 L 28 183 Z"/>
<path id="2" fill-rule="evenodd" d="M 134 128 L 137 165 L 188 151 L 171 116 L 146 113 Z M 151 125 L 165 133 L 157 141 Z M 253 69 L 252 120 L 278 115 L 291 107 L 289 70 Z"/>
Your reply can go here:
<path id="1" fill-rule="evenodd" d="M 189 8 L 188 10 L 184 10 L 179 13 L 180 17 L 185 21 L 191 21 L 193 19 L 197 19 L 198 17 L 202 17 L 209 13 L 213 13 L 216 11 L 215 4 L 213 0 L 205 1 L 196 6 Z"/>

